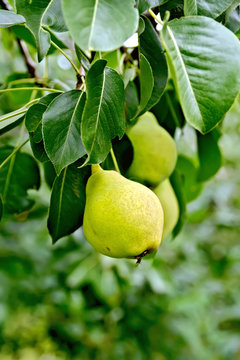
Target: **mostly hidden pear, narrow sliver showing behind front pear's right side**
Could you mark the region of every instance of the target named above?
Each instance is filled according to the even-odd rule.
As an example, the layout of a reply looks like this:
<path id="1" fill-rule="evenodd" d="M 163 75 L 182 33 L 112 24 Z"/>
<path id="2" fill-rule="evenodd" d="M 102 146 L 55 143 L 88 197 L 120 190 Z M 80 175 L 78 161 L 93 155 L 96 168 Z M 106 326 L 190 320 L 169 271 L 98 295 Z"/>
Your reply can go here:
<path id="1" fill-rule="evenodd" d="M 165 239 L 174 229 L 179 218 L 179 205 L 175 192 L 169 179 L 165 179 L 155 189 L 154 193 L 159 198 L 163 213 L 163 239 Z"/>

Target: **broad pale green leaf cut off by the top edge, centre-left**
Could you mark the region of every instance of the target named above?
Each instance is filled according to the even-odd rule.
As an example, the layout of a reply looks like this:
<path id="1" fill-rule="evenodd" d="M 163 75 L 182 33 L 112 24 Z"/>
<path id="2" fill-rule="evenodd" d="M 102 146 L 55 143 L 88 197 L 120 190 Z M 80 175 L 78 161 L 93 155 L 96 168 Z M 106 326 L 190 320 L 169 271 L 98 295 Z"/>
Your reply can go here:
<path id="1" fill-rule="evenodd" d="M 74 42 L 85 52 L 119 48 L 138 27 L 133 0 L 63 0 Z"/>

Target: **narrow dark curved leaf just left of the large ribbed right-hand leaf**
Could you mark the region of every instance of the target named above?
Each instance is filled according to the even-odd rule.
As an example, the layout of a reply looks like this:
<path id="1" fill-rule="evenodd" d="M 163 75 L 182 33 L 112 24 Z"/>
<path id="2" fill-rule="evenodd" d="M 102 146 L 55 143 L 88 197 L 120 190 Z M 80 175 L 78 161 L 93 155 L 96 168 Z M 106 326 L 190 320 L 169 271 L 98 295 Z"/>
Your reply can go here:
<path id="1" fill-rule="evenodd" d="M 139 36 L 140 51 L 151 66 L 154 80 L 152 94 L 145 108 L 147 111 L 151 109 L 162 96 L 167 84 L 168 68 L 159 36 L 151 22 L 146 17 L 143 17 L 143 20 L 145 28 Z"/>

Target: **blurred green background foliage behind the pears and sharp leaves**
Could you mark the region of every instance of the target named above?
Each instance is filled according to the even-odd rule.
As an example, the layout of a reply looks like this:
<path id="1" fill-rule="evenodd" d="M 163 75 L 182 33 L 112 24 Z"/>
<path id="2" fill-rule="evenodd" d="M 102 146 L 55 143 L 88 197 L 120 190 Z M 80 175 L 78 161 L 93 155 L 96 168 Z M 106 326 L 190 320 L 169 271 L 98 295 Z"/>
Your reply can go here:
<path id="1" fill-rule="evenodd" d="M 0 47 L 3 83 L 25 70 L 11 35 Z M 50 59 L 51 76 L 71 85 L 64 59 Z M 195 140 L 185 128 L 179 152 Z M 224 166 L 189 204 L 182 233 L 140 266 L 97 254 L 81 229 L 52 246 L 50 191 L 32 191 L 28 220 L 0 225 L 0 360 L 240 359 L 240 102 L 220 146 Z"/>

